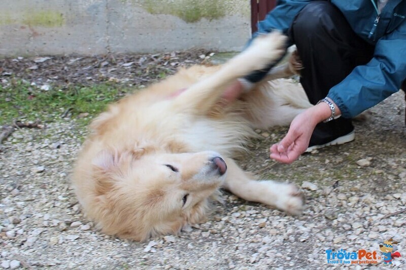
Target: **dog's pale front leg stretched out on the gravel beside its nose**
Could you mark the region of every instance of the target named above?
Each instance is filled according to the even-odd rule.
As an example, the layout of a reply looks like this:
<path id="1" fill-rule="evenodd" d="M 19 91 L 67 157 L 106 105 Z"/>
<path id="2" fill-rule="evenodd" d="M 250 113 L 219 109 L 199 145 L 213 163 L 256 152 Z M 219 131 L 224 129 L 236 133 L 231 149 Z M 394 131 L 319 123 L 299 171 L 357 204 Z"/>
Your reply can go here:
<path id="1" fill-rule="evenodd" d="M 225 159 L 227 176 L 224 188 L 232 194 L 250 201 L 298 215 L 304 208 L 303 195 L 295 185 L 273 180 L 254 180 L 255 177 L 244 172 L 232 159 Z"/>

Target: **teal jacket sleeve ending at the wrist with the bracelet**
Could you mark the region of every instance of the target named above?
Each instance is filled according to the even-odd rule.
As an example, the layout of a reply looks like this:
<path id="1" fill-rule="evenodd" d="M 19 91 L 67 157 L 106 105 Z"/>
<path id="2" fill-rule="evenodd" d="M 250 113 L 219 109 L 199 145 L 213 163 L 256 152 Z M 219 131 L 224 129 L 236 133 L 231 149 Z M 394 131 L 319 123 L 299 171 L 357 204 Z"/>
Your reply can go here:
<path id="1" fill-rule="evenodd" d="M 340 108 L 343 117 L 352 118 L 399 91 L 406 79 L 406 21 L 383 36 L 374 57 L 357 66 L 328 97 Z"/>

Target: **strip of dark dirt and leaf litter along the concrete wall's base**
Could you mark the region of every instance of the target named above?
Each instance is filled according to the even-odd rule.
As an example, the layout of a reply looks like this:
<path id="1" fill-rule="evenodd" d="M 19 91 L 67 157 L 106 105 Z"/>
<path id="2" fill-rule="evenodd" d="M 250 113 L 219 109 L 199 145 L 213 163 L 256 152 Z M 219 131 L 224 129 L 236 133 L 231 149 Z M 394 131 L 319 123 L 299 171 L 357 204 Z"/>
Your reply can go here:
<path id="1" fill-rule="evenodd" d="M 208 62 L 204 50 L 142 55 L 45 56 L 0 60 L 3 80 L 20 78 L 39 86 L 92 85 L 112 81 L 139 86 L 173 74 L 181 66 Z M 5 82 L 2 83 L 3 85 Z"/>

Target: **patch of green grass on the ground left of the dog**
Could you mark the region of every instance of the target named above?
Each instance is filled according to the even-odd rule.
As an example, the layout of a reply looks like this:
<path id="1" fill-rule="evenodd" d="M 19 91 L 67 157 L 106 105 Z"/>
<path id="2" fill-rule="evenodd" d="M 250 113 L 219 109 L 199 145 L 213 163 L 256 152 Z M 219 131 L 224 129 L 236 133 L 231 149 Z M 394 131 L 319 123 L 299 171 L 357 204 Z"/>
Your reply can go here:
<path id="1" fill-rule="evenodd" d="M 119 84 L 100 83 L 92 86 L 68 86 L 43 91 L 21 80 L 12 80 L 8 87 L 0 86 L 0 125 L 13 120 L 55 121 L 69 110 L 72 118 L 89 113 L 90 118 L 132 90 Z M 86 118 L 89 119 L 89 118 Z"/>

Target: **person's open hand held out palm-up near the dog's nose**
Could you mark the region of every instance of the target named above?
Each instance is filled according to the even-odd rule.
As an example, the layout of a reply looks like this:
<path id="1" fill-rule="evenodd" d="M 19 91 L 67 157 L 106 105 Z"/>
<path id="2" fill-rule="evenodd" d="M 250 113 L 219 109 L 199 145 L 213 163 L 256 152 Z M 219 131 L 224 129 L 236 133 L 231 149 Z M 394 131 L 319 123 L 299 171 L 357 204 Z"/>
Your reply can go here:
<path id="1" fill-rule="evenodd" d="M 336 114 L 340 114 L 340 109 L 337 106 L 335 108 L 337 110 Z M 279 143 L 273 144 L 269 148 L 269 157 L 287 164 L 297 160 L 308 148 L 310 137 L 316 125 L 329 118 L 330 115 L 331 110 L 324 102 L 298 114 L 290 124 L 286 136 Z"/>

